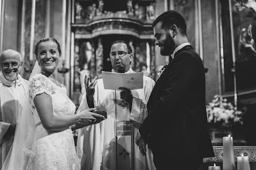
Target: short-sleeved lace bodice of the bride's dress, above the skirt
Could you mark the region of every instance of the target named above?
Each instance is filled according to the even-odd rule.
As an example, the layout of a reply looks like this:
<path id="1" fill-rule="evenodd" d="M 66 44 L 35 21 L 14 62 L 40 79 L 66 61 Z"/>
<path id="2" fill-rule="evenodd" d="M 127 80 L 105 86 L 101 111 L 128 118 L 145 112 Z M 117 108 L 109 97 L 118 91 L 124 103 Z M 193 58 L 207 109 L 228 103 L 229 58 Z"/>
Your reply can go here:
<path id="1" fill-rule="evenodd" d="M 41 124 L 36 107 L 34 106 L 34 97 L 37 94 L 46 93 L 52 97 L 53 115 L 65 116 L 75 113 L 75 104 L 68 98 L 67 89 L 64 85 L 57 86 L 42 74 L 36 74 L 29 80 L 29 103 L 32 107 L 34 122 L 36 124 L 36 139 L 40 139 L 50 133 L 47 132 Z"/>

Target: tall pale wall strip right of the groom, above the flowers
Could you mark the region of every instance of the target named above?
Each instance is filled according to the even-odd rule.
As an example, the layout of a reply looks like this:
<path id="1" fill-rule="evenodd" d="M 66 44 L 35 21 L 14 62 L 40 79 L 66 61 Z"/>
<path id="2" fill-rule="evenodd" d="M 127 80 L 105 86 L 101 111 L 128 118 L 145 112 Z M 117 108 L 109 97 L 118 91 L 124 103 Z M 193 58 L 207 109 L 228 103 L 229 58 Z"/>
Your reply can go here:
<path id="1" fill-rule="evenodd" d="M 209 5 L 210 3 L 210 5 Z M 216 18 L 215 1 L 201 1 L 202 25 L 203 25 L 203 53 L 204 67 L 208 68 L 205 73 L 206 101 L 209 102 L 220 93 L 219 72 L 220 56 L 218 54 L 218 44 L 216 42 Z"/>

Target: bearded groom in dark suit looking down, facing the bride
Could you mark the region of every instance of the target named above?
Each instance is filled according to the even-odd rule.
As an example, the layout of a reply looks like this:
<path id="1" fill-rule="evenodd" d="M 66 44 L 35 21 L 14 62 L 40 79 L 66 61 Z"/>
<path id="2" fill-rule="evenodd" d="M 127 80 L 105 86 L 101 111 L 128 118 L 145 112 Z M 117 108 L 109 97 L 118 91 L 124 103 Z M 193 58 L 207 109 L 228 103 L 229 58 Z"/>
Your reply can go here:
<path id="1" fill-rule="evenodd" d="M 205 111 L 203 62 L 187 39 L 184 18 L 166 11 L 153 22 L 155 44 L 170 56 L 150 95 L 148 117 L 136 143 L 145 154 L 148 144 L 159 169 L 198 169 L 203 157 L 212 157 Z"/>

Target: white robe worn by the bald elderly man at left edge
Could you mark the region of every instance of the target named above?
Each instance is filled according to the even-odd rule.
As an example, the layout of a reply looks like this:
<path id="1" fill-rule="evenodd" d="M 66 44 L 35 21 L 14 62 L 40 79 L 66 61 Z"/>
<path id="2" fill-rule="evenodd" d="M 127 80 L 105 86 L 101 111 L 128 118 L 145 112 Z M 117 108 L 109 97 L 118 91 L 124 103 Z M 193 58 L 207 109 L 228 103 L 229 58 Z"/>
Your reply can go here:
<path id="1" fill-rule="evenodd" d="M 25 101 L 25 92 L 28 92 L 28 81 L 21 78 L 8 81 L 0 72 L 0 166 L 2 167 L 6 156 L 13 144 L 14 136 L 5 136 L 10 124 L 16 124 Z"/>

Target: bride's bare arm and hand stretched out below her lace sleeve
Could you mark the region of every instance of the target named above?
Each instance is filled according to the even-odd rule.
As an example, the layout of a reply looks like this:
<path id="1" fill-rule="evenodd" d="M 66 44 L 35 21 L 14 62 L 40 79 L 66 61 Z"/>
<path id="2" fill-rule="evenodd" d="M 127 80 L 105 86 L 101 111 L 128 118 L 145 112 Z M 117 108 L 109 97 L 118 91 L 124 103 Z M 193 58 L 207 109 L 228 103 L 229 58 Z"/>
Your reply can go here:
<path id="1" fill-rule="evenodd" d="M 96 120 L 103 120 L 104 118 L 104 116 L 92 113 L 95 108 L 86 109 L 83 112 L 69 116 L 54 116 L 52 97 L 46 93 L 37 94 L 34 97 L 34 105 L 36 106 L 42 126 L 44 126 L 47 131 L 61 131 L 81 121 L 90 125 Z"/>

